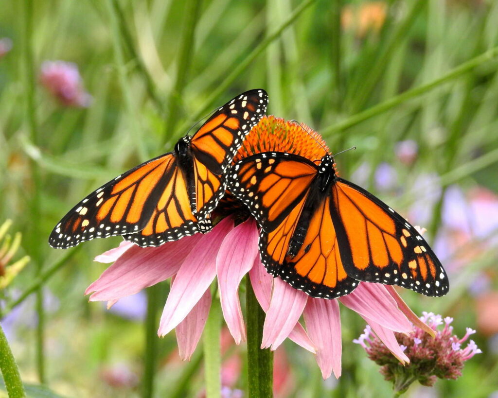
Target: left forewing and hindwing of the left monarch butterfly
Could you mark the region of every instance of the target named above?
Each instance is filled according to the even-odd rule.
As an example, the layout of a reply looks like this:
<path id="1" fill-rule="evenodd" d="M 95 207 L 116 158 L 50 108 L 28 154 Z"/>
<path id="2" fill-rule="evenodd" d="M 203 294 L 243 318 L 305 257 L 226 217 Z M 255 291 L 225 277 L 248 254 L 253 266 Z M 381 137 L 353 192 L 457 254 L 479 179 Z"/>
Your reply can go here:
<path id="1" fill-rule="evenodd" d="M 170 232 L 169 237 L 178 239 L 209 228 L 210 221 L 198 221 L 190 211 L 185 182 L 179 178 L 176 158 L 167 153 L 127 171 L 88 195 L 55 226 L 49 244 L 66 249 L 94 238 L 130 235 L 143 229 L 146 232 L 152 230 L 158 236 L 163 232 L 159 228 L 163 226 L 163 218 L 154 216 L 168 195 L 177 196 L 171 199 L 175 209 L 171 205 L 161 207 L 168 210 L 163 213 L 166 224 L 177 228 L 177 231 Z M 151 220 L 155 221 L 149 227 Z M 140 240 L 137 243 L 149 245 L 149 242 Z"/>

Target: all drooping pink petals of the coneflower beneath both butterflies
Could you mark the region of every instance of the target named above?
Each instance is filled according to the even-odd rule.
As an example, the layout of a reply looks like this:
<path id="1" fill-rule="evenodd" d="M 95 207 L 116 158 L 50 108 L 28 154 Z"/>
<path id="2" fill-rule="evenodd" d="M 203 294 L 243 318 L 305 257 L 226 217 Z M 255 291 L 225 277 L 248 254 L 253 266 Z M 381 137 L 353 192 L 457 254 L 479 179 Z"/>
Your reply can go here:
<path id="1" fill-rule="evenodd" d="M 402 352 L 394 332 L 409 333 L 418 318 L 392 287 L 361 283 L 351 294 L 338 300 L 309 298 L 279 278 L 273 278 L 261 264 L 258 231 L 251 218 L 234 227 L 232 217 L 220 221 L 211 232 L 193 235 L 159 247 L 140 248 L 122 242 L 96 258 L 115 263 L 91 284 L 90 301 L 120 298 L 168 278 L 171 290 L 161 316 L 158 334 L 176 328 L 180 356 L 190 359 L 201 337 L 211 305 L 210 285 L 218 277 L 223 315 L 235 342 L 246 340 L 239 301 L 239 284 L 247 273 L 254 294 L 266 312 L 261 347 L 275 350 L 286 338 L 316 354 L 324 379 L 332 372 L 341 375 L 341 322 L 339 301 L 358 312 L 402 363 Z M 304 316 L 306 329 L 299 322 Z M 420 323 L 420 322 L 419 322 Z M 421 325 L 423 327 L 423 325 Z M 426 329 L 428 329 L 426 327 Z"/>

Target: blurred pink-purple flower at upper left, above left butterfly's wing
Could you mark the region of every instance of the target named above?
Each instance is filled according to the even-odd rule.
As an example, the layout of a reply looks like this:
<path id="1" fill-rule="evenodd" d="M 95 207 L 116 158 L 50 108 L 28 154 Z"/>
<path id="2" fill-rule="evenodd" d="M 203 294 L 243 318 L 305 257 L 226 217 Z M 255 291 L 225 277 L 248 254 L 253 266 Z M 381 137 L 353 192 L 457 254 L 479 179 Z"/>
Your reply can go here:
<path id="1" fill-rule="evenodd" d="M 40 82 L 65 106 L 87 107 L 92 102 L 92 96 L 83 89 L 78 66 L 72 62 L 43 62 Z"/>

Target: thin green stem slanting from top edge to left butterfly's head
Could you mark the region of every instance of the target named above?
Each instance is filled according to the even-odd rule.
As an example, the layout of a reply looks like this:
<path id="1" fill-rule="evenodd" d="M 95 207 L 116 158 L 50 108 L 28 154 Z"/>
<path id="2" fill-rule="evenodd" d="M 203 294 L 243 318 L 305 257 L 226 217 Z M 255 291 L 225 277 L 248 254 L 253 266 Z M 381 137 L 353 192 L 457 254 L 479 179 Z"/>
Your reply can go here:
<path id="1" fill-rule="evenodd" d="M 237 66 L 232 70 L 231 73 L 225 78 L 223 82 L 221 82 L 212 92 L 208 99 L 205 101 L 204 105 L 199 107 L 198 111 L 193 113 L 189 120 L 183 123 L 179 130 L 185 131 L 188 129 L 189 124 L 192 120 L 199 120 L 211 107 L 211 105 L 215 102 L 215 100 L 220 97 L 221 94 L 227 90 L 228 87 L 237 79 L 237 77 L 244 72 L 244 70 L 254 62 L 256 57 L 261 54 L 269 44 L 271 44 L 275 39 L 277 39 L 282 32 L 290 26 L 302 12 L 308 8 L 311 4 L 313 4 L 316 0 L 305 0 L 301 4 L 299 4 L 296 9 L 292 12 L 292 14 L 275 30 L 274 33 L 267 36 L 263 41 L 261 41 L 254 50 L 252 50 L 249 55 L 242 60 Z"/>

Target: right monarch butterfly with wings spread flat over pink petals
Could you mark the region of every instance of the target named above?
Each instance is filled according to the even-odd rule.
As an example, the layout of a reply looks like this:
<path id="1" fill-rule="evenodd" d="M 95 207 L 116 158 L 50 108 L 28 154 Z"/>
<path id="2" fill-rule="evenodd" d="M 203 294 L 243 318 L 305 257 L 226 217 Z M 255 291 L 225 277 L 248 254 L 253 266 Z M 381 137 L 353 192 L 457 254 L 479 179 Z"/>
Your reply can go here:
<path id="1" fill-rule="evenodd" d="M 359 281 L 399 285 L 426 296 L 448 292 L 448 277 L 424 238 L 364 189 L 319 164 L 263 152 L 232 167 L 227 189 L 261 230 L 266 270 L 312 297 L 337 298 Z"/>

